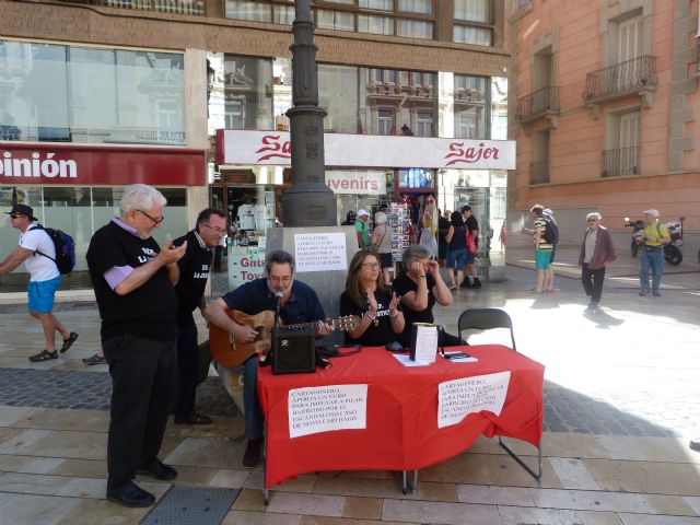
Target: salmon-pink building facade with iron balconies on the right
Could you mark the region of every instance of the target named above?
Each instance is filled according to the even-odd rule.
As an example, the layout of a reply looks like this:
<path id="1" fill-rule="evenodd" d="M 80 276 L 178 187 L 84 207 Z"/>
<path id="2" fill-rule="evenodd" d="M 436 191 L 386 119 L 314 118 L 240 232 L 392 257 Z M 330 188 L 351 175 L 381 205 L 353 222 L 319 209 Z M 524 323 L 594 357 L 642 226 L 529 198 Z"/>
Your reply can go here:
<path id="1" fill-rule="evenodd" d="M 541 202 L 574 224 L 564 224 L 564 241 L 580 241 L 592 210 L 622 232 L 626 217 L 656 208 L 665 221 L 685 217 L 686 233 L 697 233 L 698 1 L 512 0 L 509 8 L 511 231 Z"/>

